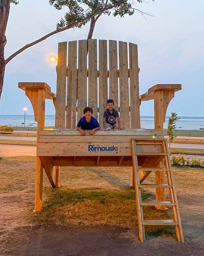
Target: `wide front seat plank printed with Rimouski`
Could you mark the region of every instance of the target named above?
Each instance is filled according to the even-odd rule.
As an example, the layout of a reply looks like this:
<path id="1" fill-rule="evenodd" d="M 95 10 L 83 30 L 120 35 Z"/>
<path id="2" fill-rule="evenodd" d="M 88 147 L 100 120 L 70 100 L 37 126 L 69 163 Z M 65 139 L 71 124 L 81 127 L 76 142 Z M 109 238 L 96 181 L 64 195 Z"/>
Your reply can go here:
<path id="1" fill-rule="evenodd" d="M 114 148 L 113 148 L 114 146 Z M 96 148 L 95 148 L 96 147 Z M 111 149 L 111 148 L 112 149 Z M 107 150 L 106 150 L 107 149 Z M 93 150 L 93 151 L 92 151 Z M 38 143 L 38 156 L 131 156 L 130 143 Z"/>

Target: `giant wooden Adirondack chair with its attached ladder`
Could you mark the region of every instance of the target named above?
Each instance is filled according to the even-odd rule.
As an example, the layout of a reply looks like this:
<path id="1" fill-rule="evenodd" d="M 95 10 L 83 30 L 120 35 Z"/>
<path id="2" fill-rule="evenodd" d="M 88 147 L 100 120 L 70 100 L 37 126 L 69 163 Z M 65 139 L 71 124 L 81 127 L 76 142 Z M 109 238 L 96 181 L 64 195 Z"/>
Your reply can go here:
<path id="1" fill-rule="evenodd" d="M 67 42 L 59 43 L 56 69 L 56 95 L 46 83 L 19 83 L 32 103 L 37 121 L 34 212 L 42 207 L 43 169 L 51 185 L 57 187 L 60 166 L 133 167 L 140 240 L 145 240 L 145 225 L 175 225 L 177 239 L 183 242 L 171 162 L 163 135 L 168 104 L 182 86 L 157 84 L 139 96 L 137 45 L 129 43 L 128 51 L 128 44 L 121 41 L 99 40 L 97 45 L 97 40 L 89 40 L 88 55 L 87 40 L 79 40 L 78 45 L 77 41 L 68 42 L 68 60 Z M 115 101 L 123 130 L 99 130 L 93 136 L 88 133 L 80 136 L 75 127 L 83 109 L 91 106 L 102 127 L 108 98 Z M 45 99 L 53 100 L 55 129 L 44 129 Z M 140 129 L 140 103 L 151 99 L 155 129 Z M 144 184 L 152 171 L 156 172 L 155 184 Z M 141 188 L 147 187 L 156 189 L 155 201 L 141 201 Z M 165 201 L 165 188 L 169 189 L 171 201 Z M 143 205 L 155 205 L 160 210 L 171 205 L 173 219 L 145 220 Z"/>

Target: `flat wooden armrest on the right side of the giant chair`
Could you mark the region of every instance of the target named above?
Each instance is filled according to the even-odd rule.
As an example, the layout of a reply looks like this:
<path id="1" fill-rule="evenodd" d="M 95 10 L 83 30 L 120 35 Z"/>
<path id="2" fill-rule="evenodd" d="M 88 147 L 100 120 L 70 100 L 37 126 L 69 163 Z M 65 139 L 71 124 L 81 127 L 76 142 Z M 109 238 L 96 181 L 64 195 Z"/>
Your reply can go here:
<path id="1" fill-rule="evenodd" d="M 169 91 L 171 93 L 175 93 L 175 91 L 179 91 L 181 89 L 181 84 L 156 84 L 149 88 L 147 93 L 140 95 L 139 99 L 141 101 L 153 100 L 156 91 Z"/>

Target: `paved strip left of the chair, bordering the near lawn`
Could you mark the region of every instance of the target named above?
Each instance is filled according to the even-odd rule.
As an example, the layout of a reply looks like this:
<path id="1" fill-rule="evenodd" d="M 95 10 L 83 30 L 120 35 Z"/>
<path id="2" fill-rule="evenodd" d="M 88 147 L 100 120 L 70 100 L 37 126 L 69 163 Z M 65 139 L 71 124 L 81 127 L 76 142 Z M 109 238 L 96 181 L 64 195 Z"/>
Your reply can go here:
<path id="1" fill-rule="evenodd" d="M 2 145 L 0 156 L 36 156 L 35 146 Z"/>

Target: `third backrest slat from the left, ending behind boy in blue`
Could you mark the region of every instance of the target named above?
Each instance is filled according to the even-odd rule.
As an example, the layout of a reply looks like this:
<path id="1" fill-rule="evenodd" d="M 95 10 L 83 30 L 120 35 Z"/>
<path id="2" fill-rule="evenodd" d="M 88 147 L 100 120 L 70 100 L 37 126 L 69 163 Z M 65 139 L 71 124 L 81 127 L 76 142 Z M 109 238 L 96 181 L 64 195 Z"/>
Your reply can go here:
<path id="1" fill-rule="evenodd" d="M 83 116 L 87 106 L 87 40 L 79 40 L 78 56 L 78 110 L 77 120 Z"/>

